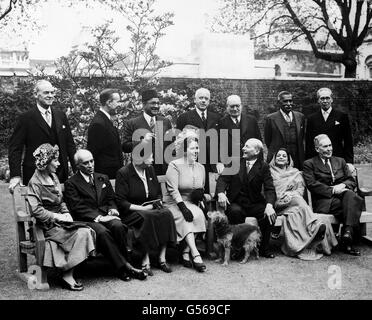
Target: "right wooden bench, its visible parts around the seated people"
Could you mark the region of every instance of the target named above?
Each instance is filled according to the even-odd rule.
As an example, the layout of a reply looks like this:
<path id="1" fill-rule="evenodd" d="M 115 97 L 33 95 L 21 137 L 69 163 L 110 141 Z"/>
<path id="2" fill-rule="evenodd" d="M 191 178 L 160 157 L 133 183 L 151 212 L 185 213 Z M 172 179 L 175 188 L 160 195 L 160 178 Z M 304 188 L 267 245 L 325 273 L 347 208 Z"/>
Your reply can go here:
<path id="1" fill-rule="evenodd" d="M 355 169 L 356 170 L 356 169 Z M 364 199 L 364 206 L 363 206 L 363 211 L 362 215 L 360 217 L 360 233 L 361 237 L 363 240 L 367 241 L 369 244 L 372 244 L 372 237 L 367 235 L 367 224 L 372 223 L 372 211 L 367 211 L 366 209 L 366 201 L 365 198 L 368 196 L 372 196 L 372 190 L 367 190 L 366 188 L 362 188 L 359 186 L 359 180 L 358 179 L 358 173 L 357 170 L 354 174 L 354 178 L 356 179 L 357 182 L 357 189 L 356 192 L 358 193 L 359 196 L 361 196 Z M 214 196 L 214 190 L 216 190 L 216 181 L 218 179 L 218 174 L 217 173 L 212 173 L 209 177 L 209 185 L 210 189 L 213 190 L 211 192 L 211 196 Z M 308 196 L 308 202 L 310 207 L 312 207 L 312 201 L 311 201 L 311 193 L 307 190 L 307 196 Z M 221 210 L 221 208 L 219 208 Z M 335 216 L 331 214 L 322 214 L 322 216 L 327 217 L 332 224 L 340 224 L 340 222 L 335 218 Z M 247 223 L 253 223 L 257 224 L 256 218 L 246 218 Z M 283 216 L 278 216 L 275 222 L 276 227 L 280 227 L 283 222 Z M 212 230 L 213 232 L 213 230 Z"/>

